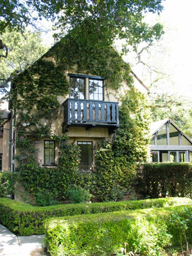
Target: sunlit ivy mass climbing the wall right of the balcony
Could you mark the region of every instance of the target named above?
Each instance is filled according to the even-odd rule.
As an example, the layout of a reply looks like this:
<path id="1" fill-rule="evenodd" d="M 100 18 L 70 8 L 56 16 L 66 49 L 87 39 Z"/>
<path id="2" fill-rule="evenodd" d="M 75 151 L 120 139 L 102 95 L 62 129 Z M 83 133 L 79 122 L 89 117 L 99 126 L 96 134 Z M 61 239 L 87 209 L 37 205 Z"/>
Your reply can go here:
<path id="1" fill-rule="evenodd" d="M 150 114 L 145 96 L 130 89 L 120 101 L 120 128 L 95 156 L 97 190 L 103 200 L 120 199 L 121 190 L 132 184 L 137 162 L 148 156 Z"/>

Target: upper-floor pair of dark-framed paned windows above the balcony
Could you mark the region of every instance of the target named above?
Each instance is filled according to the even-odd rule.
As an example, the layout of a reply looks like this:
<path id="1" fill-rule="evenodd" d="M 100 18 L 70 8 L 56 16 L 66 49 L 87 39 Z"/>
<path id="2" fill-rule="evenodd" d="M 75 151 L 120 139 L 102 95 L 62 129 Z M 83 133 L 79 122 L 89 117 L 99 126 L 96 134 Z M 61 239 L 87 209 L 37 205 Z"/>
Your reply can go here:
<path id="1" fill-rule="evenodd" d="M 103 79 L 100 76 L 69 75 L 70 98 L 80 100 L 104 100 Z"/>

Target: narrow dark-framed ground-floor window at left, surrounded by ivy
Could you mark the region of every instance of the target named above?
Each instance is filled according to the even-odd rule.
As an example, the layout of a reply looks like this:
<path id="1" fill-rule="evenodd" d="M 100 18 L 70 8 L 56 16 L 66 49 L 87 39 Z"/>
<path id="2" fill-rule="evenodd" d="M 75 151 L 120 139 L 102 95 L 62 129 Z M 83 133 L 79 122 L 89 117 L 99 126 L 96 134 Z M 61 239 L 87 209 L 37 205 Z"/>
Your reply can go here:
<path id="1" fill-rule="evenodd" d="M 44 140 L 44 165 L 55 165 L 54 140 Z"/>

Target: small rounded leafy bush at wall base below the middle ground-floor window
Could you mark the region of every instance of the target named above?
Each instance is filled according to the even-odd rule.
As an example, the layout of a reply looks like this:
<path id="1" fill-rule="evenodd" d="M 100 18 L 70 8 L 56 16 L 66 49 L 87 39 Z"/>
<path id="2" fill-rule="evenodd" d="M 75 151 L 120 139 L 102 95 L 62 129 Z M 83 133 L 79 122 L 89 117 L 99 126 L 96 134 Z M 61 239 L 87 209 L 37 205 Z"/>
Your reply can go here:
<path id="1" fill-rule="evenodd" d="M 71 203 L 86 203 L 91 199 L 91 194 L 81 187 L 72 187 L 68 191 L 69 199 L 71 200 Z"/>

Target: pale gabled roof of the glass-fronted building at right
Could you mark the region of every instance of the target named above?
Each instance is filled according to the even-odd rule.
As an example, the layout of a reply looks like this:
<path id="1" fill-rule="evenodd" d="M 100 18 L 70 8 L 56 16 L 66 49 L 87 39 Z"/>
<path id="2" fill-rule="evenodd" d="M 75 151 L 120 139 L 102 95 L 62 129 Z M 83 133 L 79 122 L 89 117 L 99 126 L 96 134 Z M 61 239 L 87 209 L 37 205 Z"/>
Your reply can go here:
<path id="1" fill-rule="evenodd" d="M 167 121 L 169 121 L 169 123 L 171 123 L 175 129 L 178 130 L 178 132 L 181 132 L 181 134 L 187 139 L 189 140 L 189 142 L 192 143 L 192 140 L 190 139 L 190 137 L 188 137 L 178 126 L 177 124 L 174 123 L 174 121 L 172 121 L 171 119 L 167 118 L 167 119 L 162 119 L 159 121 L 155 121 L 152 122 L 151 124 L 149 124 L 150 127 L 150 135 L 154 135 L 154 133 L 156 131 L 158 131 L 165 123 L 167 123 Z"/>

